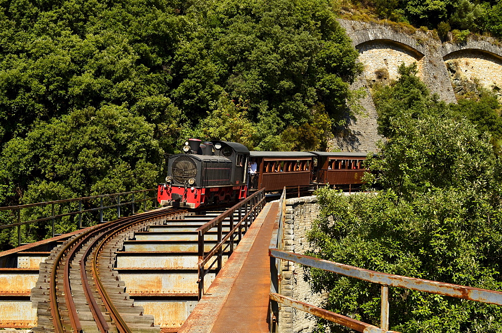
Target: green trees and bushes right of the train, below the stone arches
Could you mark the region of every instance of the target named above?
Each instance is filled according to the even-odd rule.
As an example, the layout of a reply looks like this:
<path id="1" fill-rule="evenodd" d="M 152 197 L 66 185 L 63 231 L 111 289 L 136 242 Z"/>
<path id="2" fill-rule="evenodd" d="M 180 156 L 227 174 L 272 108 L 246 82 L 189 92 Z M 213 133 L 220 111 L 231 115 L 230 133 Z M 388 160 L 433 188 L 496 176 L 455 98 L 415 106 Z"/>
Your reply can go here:
<path id="1" fill-rule="evenodd" d="M 469 121 L 488 117 L 493 109 L 485 101 L 470 108 L 445 105 L 424 89 L 413 67 L 400 71 L 398 82 L 376 94 L 379 128 L 388 140 L 378 157 L 367 160 L 373 171 L 366 176 L 368 186 L 385 189 L 351 196 L 319 190 L 321 213 L 309 235 L 309 254 L 379 272 L 502 290 L 497 259 L 502 169 L 490 134 L 480 131 L 493 136 L 497 128 Z M 393 103 L 399 107 L 389 107 Z M 476 116 L 483 107 L 483 116 Z M 460 117 L 467 109 L 469 117 Z M 327 309 L 379 325 L 378 285 L 315 269 L 309 278 L 315 291 L 328 292 Z M 391 329 L 400 332 L 502 331 L 498 306 L 391 288 L 390 308 Z"/>

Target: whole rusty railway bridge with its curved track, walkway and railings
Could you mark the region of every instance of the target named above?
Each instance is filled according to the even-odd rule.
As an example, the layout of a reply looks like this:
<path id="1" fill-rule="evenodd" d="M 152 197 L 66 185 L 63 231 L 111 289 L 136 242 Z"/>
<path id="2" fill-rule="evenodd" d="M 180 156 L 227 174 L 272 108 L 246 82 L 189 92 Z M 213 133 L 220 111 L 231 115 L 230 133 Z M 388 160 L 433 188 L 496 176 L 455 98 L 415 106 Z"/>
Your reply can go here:
<path id="1" fill-rule="evenodd" d="M 391 287 L 502 305 L 502 292 L 303 255 L 292 245 L 299 229 L 295 215 L 302 219 L 301 211 L 312 213 L 297 206 L 315 197 L 287 200 L 283 191 L 279 200 L 267 202 L 261 190 L 233 207 L 189 212 L 157 208 L 152 193 L 0 208 L 3 217 L 15 220 L 0 228 L 17 230 L 12 234 L 19 243 L 0 253 L 0 328 L 293 332 L 308 328 L 294 325 L 307 312 L 359 332 L 397 333 L 389 330 Z M 97 223 L 82 226 L 91 217 Z M 56 234 L 56 220 L 78 228 Z M 49 226 L 53 237 L 23 244 L 25 232 L 36 230 L 36 224 Z M 380 327 L 309 303 L 294 290 L 295 264 L 381 285 Z"/>

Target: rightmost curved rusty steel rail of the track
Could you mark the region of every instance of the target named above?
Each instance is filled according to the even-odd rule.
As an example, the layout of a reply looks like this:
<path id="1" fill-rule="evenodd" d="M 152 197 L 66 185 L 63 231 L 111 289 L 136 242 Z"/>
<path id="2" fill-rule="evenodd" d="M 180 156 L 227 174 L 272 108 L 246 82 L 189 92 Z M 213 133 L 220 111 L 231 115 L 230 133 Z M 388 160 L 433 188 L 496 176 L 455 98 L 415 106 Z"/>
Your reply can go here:
<path id="1" fill-rule="evenodd" d="M 153 218 L 158 218 L 160 216 L 166 216 L 166 215 L 174 215 L 174 214 L 178 214 L 183 211 L 186 211 L 186 209 L 174 209 L 174 211 L 173 211 L 173 208 L 167 209 L 167 210 L 168 210 L 167 213 L 166 213 L 166 211 L 161 211 L 158 214 L 151 214 L 152 216 L 148 216 L 146 218 L 141 218 L 139 220 L 133 221 L 132 223 L 128 224 L 128 228 L 131 228 L 132 226 L 137 225 L 137 224 L 144 223 L 144 222 L 151 220 Z M 132 217 L 131 219 L 133 219 L 134 217 L 138 217 L 138 215 L 131 216 L 131 217 Z M 141 216 L 141 217 L 144 217 L 144 216 Z M 129 329 L 126 321 L 123 320 L 122 316 L 120 315 L 120 313 L 116 309 L 115 305 L 113 304 L 113 301 L 111 300 L 110 296 L 108 295 L 106 289 L 104 288 L 103 283 L 101 282 L 101 278 L 99 277 L 99 269 L 97 266 L 98 256 L 102 251 L 102 247 L 106 243 L 111 241 L 111 239 L 114 236 L 116 236 L 116 234 L 118 234 L 119 232 L 121 232 L 121 229 L 114 230 L 110 235 L 105 236 L 105 238 L 96 247 L 96 249 L 94 251 L 93 258 L 92 258 L 92 275 L 94 277 L 94 281 L 96 282 L 96 287 L 97 287 L 98 293 L 103 300 L 103 303 L 106 307 L 106 310 L 108 311 L 108 313 L 110 314 L 112 319 L 115 321 L 115 326 L 117 327 L 118 331 L 120 333 L 131 333 L 131 330 Z M 95 240 L 91 246 L 93 246 L 95 243 L 97 243 L 97 240 Z"/>

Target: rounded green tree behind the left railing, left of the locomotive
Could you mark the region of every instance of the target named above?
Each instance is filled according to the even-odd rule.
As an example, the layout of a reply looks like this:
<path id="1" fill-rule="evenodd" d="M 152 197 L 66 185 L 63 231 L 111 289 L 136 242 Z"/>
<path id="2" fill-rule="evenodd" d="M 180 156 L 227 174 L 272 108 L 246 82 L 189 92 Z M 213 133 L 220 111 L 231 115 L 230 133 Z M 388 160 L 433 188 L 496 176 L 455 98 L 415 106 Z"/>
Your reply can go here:
<path id="1" fill-rule="evenodd" d="M 163 165 L 154 128 L 145 118 L 114 105 L 39 122 L 26 138 L 6 145 L 0 156 L 1 182 L 21 192 L 22 203 L 151 188 Z M 71 231 L 75 225 L 58 220 L 56 232 Z M 43 224 L 24 231 L 24 241 L 52 235 Z"/>

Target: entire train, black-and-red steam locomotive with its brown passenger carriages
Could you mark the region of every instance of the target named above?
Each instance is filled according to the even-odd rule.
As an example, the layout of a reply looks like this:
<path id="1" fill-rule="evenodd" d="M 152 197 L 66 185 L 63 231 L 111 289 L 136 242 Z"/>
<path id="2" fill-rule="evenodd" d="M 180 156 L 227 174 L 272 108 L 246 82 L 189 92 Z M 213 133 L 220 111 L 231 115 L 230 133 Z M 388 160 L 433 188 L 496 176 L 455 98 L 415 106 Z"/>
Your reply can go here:
<path id="1" fill-rule="evenodd" d="M 164 206 L 198 208 L 235 202 L 248 190 L 286 187 L 357 187 L 365 153 L 249 152 L 239 143 L 189 139 L 184 153 L 169 157 L 166 183 L 158 188 Z M 256 163 L 249 174 L 249 165 Z M 255 172 L 256 169 L 256 172 Z"/>

